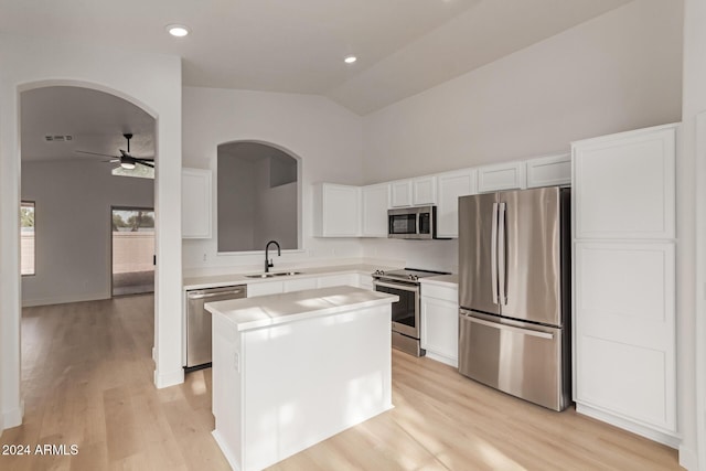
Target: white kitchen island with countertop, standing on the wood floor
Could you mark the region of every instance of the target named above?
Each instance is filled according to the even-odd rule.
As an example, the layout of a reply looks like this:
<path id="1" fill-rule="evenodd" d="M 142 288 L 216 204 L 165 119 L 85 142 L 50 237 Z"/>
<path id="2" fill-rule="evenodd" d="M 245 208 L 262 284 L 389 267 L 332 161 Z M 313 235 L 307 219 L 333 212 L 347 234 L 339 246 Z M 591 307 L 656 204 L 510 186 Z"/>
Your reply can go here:
<path id="1" fill-rule="evenodd" d="M 393 407 L 396 300 L 342 286 L 205 304 L 213 436 L 234 469 L 260 470 Z"/>

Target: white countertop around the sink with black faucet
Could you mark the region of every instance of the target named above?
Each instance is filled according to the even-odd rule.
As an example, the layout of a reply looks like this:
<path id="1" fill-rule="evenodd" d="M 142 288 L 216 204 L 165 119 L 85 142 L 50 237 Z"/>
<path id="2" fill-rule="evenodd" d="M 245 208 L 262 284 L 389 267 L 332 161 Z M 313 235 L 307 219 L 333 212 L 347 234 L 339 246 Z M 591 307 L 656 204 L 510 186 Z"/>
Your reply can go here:
<path id="1" fill-rule="evenodd" d="M 389 267 L 382 267 L 379 265 L 335 265 L 335 266 L 327 266 L 327 267 L 309 267 L 309 268 L 272 268 L 272 272 L 278 271 L 301 271 L 301 275 L 290 275 L 286 277 L 270 277 L 270 278 L 248 278 L 246 275 L 250 275 L 250 272 L 243 274 L 227 274 L 227 275 L 211 275 L 211 276 L 202 276 L 202 277 L 185 277 L 183 279 L 183 289 L 204 289 L 204 288 L 218 288 L 223 286 L 231 285 L 252 285 L 259 282 L 268 282 L 268 281 L 284 281 L 291 280 L 298 278 L 311 278 L 319 277 L 322 275 L 335 275 L 335 274 L 362 274 L 362 275 L 372 275 L 375 270 L 388 270 L 395 269 Z"/>

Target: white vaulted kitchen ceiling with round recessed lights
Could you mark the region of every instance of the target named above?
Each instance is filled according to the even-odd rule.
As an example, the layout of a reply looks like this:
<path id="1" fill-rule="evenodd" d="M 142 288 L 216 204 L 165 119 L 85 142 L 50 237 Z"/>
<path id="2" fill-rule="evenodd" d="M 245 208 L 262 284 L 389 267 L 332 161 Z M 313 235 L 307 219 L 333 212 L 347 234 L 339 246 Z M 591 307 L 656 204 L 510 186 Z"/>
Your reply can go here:
<path id="1" fill-rule="evenodd" d="M 365 115 L 629 1 L 0 0 L 0 31 L 180 55 L 186 86 L 325 95 Z"/>

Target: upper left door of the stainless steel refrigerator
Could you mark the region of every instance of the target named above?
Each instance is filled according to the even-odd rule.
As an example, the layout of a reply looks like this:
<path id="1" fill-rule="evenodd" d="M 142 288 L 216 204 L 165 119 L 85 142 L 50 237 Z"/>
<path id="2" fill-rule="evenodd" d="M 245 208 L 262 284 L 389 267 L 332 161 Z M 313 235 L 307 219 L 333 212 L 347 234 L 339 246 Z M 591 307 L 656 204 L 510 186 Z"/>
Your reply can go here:
<path id="1" fill-rule="evenodd" d="M 459 304 L 500 314 L 498 297 L 498 194 L 459 199 Z"/>

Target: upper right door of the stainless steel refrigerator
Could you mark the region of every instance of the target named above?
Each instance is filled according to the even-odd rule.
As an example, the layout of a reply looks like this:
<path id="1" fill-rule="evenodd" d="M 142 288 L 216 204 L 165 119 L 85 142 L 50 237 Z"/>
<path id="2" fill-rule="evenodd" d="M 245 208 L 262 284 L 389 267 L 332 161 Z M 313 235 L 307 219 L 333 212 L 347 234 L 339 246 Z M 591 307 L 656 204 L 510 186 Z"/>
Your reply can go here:
<path id="1" fill-rule="evenodd" d="M 559 189 L 499 193 L 501 314 L 561 325 Z"/>

